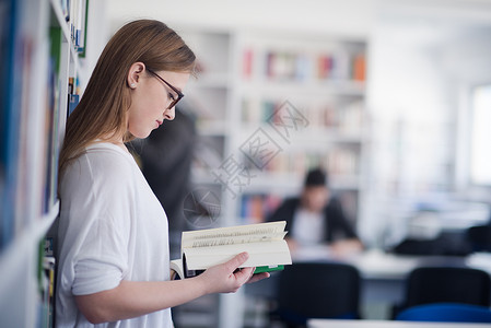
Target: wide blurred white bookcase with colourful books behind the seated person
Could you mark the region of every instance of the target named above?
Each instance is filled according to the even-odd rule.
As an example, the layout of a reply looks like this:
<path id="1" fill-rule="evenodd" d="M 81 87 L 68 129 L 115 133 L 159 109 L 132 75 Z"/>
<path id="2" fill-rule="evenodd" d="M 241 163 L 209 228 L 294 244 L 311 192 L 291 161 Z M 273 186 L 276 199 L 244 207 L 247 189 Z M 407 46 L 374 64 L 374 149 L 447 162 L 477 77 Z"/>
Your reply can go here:
<path id="1" fill-rule="evenodd" d="M 244 142 L 254 140 L 250 137 L 258 129 L 268 140 L 257 140 L 277 144 L 265 163 L 242 156 L 256 177 L 237 203 L 241 221 L 265 220 L 281 199 L 300 194 L 308 168 L 322 166 L 332 192 L 356 224 L 369 132 L 366 42 L 334 35 L 244 33 L 238 52 L 236 125 L 242 136 L 232 148 L 239 150 L 237 156 L 244 154 Z"/>

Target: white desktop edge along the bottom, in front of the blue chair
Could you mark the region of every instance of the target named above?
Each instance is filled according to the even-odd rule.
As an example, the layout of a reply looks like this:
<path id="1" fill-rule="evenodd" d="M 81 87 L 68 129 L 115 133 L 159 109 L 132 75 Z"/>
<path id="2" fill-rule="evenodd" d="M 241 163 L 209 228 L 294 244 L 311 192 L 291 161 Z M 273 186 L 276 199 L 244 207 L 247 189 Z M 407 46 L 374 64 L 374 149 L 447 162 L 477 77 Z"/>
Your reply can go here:
<path id="1" fill-rule="evenodd" d="M 416 323 L 382 320 L 308 320 L 308 328 L 490 328 L 490 324 Z"/>

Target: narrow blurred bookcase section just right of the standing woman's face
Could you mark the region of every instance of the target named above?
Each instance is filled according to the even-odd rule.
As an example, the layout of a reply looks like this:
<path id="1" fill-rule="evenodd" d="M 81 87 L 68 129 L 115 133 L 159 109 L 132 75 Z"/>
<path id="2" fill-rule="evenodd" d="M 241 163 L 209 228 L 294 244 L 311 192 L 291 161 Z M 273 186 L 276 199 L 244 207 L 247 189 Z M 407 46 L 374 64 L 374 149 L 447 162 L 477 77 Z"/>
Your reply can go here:
<path id="1" fill-rule="evenodd" d="M 192 192 L 211 192 L 209 204 L 219 209 L 217 215 L 189 221 L 188 229 L 232 225 L 235 221 L 233 200 L 226 197 L 212 173 L 231 152 L 233 127 L 230 122 L 235 113 L 230 110 L 235 106 L 231 55 L 234 50 L 234 35 L 227 31 L 201 26 L 171 26 L 198 58 L 198 78 L 189 79 L 186 97 L 183 99 L 184 107 L 196 117 L 199 136 L 191 168 Z M 223 307 L 225 303 L 227 302 L 223 295 L 202 296 L 173 308 L 174 323 L 183 327 L 231 327 L 227 325 L 230 321 L 220 318 L 220 314 L 227 311 L 226 306 Z"/>

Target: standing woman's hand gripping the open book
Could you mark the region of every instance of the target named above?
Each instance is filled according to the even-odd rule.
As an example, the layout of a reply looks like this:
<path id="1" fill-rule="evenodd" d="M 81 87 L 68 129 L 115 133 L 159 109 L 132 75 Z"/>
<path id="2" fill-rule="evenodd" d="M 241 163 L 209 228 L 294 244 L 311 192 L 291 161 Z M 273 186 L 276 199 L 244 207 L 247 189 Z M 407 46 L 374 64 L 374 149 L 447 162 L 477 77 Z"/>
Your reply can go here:
<path id="1" fill-rule="evenodd" d="M 258 281 L 269 276 L 253 276 L 255 268 L 238 269 L 248 258 L 247 253 L 241 253 L 227 262 L 209 268 L 197 279 L 202 280 L 207 293 L 235 293 L 244 283 Z"/>

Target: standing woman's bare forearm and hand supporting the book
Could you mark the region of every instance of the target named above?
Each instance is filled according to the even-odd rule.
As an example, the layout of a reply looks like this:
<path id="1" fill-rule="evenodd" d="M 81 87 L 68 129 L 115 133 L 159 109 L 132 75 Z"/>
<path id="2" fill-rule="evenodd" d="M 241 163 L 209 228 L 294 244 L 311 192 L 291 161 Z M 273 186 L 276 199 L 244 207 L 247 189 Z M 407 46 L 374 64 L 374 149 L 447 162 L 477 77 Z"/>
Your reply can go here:
<path id="1" fill-rule="evenodd" d="M 236 269 L 248 258 L 242 253 L 225 263 L 209 268 L 198 277 L 174 281 L 126 281 L 115 289 L 75 296 L 77 306 L 92 324 L 139 317 L 152 312 L 180 305 L 210 293 L 236 292 L 252 279 L 254 268 Z"/>

